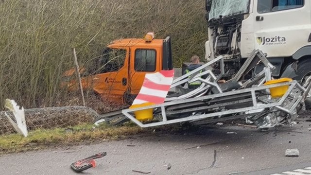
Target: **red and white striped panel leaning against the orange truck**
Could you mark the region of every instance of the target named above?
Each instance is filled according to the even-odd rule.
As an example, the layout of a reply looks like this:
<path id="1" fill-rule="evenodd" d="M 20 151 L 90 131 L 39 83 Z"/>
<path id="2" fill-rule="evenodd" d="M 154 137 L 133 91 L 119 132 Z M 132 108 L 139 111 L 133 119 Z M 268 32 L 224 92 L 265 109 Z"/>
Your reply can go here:
<path id="1" fill-rule="evenodd" d="M 132 105 L 143 103 L 161 104 L 173 83 L 174 70 L 161 70 L 155 73 L 146 73 L 144 82 Z"/>

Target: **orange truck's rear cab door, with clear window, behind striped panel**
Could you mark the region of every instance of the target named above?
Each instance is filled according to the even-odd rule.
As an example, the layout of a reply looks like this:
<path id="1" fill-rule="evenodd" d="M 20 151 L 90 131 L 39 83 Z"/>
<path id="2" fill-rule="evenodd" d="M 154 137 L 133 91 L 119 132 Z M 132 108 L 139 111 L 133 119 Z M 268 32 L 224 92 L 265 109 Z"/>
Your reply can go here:
<path id="1" fill-rule="evenodd" d="M 132 47 L 130 62 L 130 94 L 138 94 L 146 73 L 162 69 L 162 51 L 160 47 Z"/>

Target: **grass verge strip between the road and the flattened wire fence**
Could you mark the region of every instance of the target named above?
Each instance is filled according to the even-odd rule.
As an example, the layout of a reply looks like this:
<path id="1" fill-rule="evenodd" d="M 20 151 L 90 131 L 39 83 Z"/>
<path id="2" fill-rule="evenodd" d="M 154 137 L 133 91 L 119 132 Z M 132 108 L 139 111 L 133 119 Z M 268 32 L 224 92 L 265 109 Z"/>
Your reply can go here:
<path id="1" fill-rule="evenodd" d="M 0 136 L 0 154 L 39 150 L 55 146 L 70 146 L 107 139 L 124 139 L 127 136 L 146 131 L 149 130 L 139 128 L 133 124 L 124 126 L 103 124 L 97 127 L 82 124 L 69 128 L 38 129 L 29 132 L 27 138 L 18 134 Z"/>

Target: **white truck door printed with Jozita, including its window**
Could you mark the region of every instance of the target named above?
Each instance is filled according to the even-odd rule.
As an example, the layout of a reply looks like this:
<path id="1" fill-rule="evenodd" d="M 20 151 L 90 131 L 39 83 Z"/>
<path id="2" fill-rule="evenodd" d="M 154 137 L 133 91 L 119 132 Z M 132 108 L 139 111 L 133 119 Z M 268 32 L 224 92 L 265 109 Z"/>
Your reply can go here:
<path id="1" fill-rule="evenodd" d="M 255 48 L 271 58 L 308 45 L 310 6 L 310 0 L 254 0 Z"/>

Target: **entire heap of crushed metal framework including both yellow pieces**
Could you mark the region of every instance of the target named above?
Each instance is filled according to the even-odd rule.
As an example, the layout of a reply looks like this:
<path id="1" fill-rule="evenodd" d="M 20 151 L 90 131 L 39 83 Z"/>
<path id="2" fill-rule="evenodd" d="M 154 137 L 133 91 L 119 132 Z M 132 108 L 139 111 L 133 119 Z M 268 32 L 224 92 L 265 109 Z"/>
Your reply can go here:
<path id="1" fill-rule="evenodd" d="M 259 63 L 264 65 L 264 69 L 251 79 L 243 80 L 242 77 Z M 205 70 L 213 64 L 220 65 L 220 74 Z M 246 118 L 258 128 L 293 124 L 298 112 L 305 110 L 304 101 L 310 97 L 311 85 L 304 88 L 289 78 L 274 80 L 271 76 L 274 69 L 261 51 L 254 50 L 234 78 L 219 83 L 225 74 L 224 57 L 219 56 L 173 80 L 171 88 L 175 88 L 175 93 L 169 94 L 165 103 L 123 109 L 118 111 L 118 115 L 126 117 L 122 116 L 119 121 L 128 121 L 127 118 L 140 127 L 181 122 L 206 124 L 240 118 Z M 200 73 L 201 70 L 205 71 Z M 201 82 L 196 89 L 182 87 L 196 81 Z M 139 115 L 149 115 L 146 118 L 150 120 L 139 121 L 135 116 L 139 112 Z"/>

